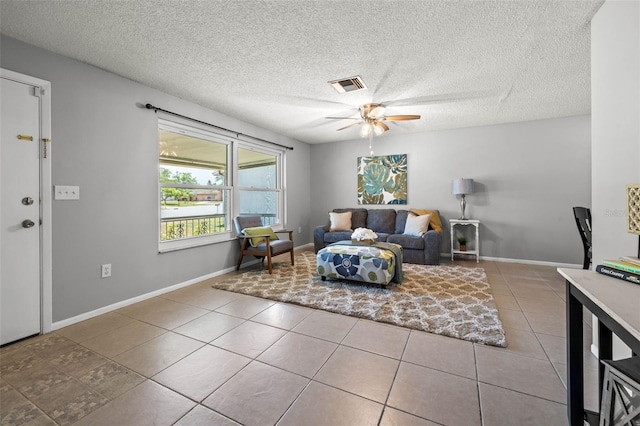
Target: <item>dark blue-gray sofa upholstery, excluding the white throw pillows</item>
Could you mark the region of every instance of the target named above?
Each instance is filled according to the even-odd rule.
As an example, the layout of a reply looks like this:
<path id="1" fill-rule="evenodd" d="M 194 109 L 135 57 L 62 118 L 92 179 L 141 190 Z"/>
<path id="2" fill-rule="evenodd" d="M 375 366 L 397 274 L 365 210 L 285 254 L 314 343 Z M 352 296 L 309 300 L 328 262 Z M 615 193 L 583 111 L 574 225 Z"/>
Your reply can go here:
<path id="1" fill-rule="evenodd" d="M 403 235 L 408 210 L 394 209 L 334 209 L 336 213 L 351 212 L 351 229 L 368 228 L 378 234 L 378 241 L 400 244 L 402 256 L 407 263 L 419 265 L 440 264 L 440 241 L 442 225 L 438 210 L 431 210 L 429 230 L 422 236 Z M 434 215 L 437 220 L 434 220 Z M 434 229 L 439 228 L 439 230 Z M 313 245 L 316 253 L 331 243 L 351 240 L 350 231 L 329 232 L 329 223 L 318 226 L 313 232 Z"/>

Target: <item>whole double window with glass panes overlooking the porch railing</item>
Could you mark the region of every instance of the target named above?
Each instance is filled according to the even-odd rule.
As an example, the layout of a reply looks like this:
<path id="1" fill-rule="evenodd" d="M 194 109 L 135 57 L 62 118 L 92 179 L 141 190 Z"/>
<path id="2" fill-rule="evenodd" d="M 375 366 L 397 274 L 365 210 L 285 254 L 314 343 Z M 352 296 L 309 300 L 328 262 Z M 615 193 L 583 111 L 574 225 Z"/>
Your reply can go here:
<path id="1" fill-rule="evenodd" d="M 235 238 L 233 218 L 283 223 L 282 151 L 159 122 L 160 251 Z"/>

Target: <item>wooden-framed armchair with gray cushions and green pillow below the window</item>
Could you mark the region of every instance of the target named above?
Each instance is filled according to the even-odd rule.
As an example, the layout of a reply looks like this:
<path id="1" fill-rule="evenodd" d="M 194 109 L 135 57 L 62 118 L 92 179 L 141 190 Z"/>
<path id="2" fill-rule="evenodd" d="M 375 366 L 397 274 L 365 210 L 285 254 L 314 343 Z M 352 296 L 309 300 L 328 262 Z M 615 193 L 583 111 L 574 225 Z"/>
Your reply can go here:
<path id="1" fill-rule="evenodd" d="M 236 232 L 240 240 L 240 255 L 238 256 L 238 264 L 236 265 L 236 271 L 240 269 L 242 259 L 245 255 L 255 256 L 261 259 L 264 263 L 264 259 L 267 259 L 267 267 L 269 273 L 273 273 L 273 265 L 271 258 L 282 253 L 291 253 L 291 264 L 294 265 L 293 260 L 293 231 L 281 230 L 281 231 L 265 231 L 252 229 L 252 235 L 246 235 L 245 230 L 247 228 L 262 228 L 262 219 L 260 216 L 237 216 L 234 219 Z M 256 232 L 253 232 L 256 231 Z M 288 240 L 280 240 L 274 234 L 289 234 Z M 275 237 L 275 238 L 274 238 Z M 258 244 L 251 244 L 251 240 L 261 240 Z"/>

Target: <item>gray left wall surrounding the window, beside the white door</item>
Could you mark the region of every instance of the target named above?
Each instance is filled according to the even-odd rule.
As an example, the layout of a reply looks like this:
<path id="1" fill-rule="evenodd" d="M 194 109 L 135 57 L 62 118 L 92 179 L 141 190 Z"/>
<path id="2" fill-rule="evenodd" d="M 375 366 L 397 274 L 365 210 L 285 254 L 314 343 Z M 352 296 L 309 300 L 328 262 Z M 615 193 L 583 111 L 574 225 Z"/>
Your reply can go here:
<path id="1" fill-rule="evenodd" d="M 53 321 L 229 268 L 237 241 L 158 254 L 157 119 L 138 103 L 293 146 L 287 151 L 287 226 L 309 242 L 307 144 L 251 126 L 114 74 L 2 37 L 3 68 L 52 87 L 52 183 L 79 185 L 53 201 Z M 306 238 L 305 238 L 306 237 Z M 113 276 L 100 279 L 100 265 Z"/>

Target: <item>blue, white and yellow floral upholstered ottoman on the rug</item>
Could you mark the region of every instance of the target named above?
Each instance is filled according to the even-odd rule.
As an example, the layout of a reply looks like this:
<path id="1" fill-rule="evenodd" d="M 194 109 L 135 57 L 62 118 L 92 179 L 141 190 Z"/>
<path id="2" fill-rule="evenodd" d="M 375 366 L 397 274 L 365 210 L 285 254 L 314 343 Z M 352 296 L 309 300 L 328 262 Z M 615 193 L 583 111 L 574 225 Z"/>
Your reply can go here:
<path id="1" fill-rule="evenodd" d="M 402 247 L 390 243 L 359 245 L 338 241 L 318 251 L 316 270 L 323 281 L 341 278 L 381 285 L 392 280 L 400 283 Z"/>

